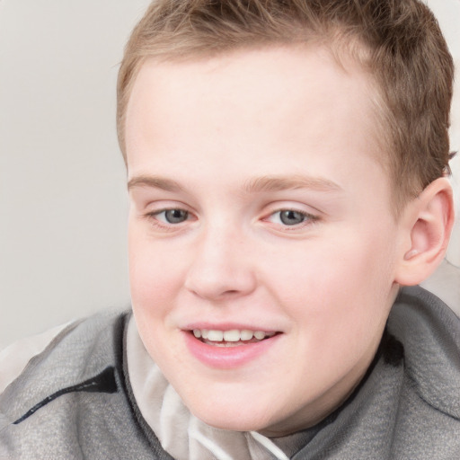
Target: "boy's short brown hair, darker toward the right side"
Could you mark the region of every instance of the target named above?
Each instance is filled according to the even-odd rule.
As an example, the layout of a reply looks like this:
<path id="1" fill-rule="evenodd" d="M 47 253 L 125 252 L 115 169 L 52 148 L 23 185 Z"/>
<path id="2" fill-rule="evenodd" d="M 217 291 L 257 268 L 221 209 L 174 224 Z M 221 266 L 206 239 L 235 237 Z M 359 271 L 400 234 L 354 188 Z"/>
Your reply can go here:
<path id="1" fill-rule="evenodd" d="M 119 70 L 117 128 L 125 161 L 128 98 L 147 57 L 206 57 L 310 40 L 347 51 L 374 76 L 388 151 L 382 163 L 396 208 L 449 172 L 454 64 L 437 20 L 419 0 L 155 0 L 132 32 Z"/>

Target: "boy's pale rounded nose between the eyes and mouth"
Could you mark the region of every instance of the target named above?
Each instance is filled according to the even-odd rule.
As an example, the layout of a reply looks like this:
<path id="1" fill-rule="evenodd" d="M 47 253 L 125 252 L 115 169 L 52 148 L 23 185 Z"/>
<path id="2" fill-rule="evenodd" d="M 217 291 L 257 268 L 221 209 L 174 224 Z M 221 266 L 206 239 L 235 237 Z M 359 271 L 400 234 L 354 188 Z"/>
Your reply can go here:
<path id="1" fill-rule="evenodd" d="M 209 229 L 196 242 L 185 287 L 196 296 L 214 301 L 248 295 L 256 287 L 252 262 L 242 234 Z"/>

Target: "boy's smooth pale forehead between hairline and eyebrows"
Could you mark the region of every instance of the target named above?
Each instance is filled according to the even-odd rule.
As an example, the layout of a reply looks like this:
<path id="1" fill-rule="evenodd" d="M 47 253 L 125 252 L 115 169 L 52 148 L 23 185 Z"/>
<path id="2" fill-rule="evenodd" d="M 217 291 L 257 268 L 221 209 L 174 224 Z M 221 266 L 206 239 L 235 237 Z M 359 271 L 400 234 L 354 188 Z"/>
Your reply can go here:
<path id="1" fill-rule="evenodd" d="M 379 151 L 374 93 L 358 65 L 341 66 L 320 47 L 147 59 L 128 103 L 128 171 L 139 173 L 165 153 L 168 162 L 186 164 L 190 157 L 208 162 L 216 152 L 242 172 L 249 156 L 267 170 L 261 173 L 283 169 L 289 158 L 305 158 L 314 169 L 330 157 L 333 168 L 328 153 Z"/>

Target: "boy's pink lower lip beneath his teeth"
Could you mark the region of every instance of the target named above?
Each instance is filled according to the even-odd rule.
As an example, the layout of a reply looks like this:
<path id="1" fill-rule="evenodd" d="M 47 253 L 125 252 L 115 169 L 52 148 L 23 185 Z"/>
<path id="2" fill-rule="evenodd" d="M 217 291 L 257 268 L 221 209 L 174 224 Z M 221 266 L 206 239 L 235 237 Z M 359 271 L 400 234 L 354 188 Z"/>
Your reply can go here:
<path id="1" fill-rule="evenodd" d="M 236 345 L 234 347 L 217 347 L 199 341 L 190 332 L 183 333 L 185 334 L 185 343 L 190 353 L 206 366 L 219 369 L 241 367 L 258 358 L 261 354 L 266 353 L 279 340 L 281 335 L 277 334 L 263 341 Z"/>

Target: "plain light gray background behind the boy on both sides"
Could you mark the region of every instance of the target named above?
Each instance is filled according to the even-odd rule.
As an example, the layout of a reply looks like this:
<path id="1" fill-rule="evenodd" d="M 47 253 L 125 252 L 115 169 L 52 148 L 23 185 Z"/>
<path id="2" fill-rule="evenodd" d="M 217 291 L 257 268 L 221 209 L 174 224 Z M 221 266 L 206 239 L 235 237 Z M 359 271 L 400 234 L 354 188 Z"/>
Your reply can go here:
<path id="1" fill-rule="evenodd" d="M 0 349 L 129 304 L 115 81 L 148 3 L 0 0 Z M 460 0 L 429 4 L 460 68 Z M 457 81 L 455 150 L 459 93 Z M 460 158 L 453 167 L 459 208 Z M 460 265 L 455 232 L 448 258 Z"/>

